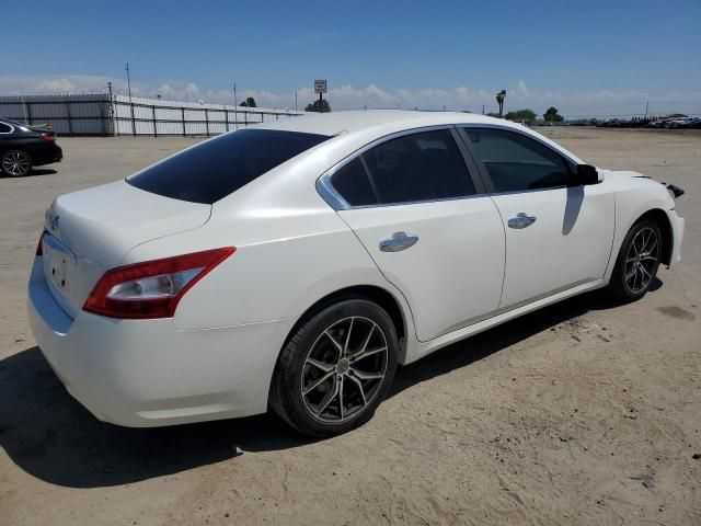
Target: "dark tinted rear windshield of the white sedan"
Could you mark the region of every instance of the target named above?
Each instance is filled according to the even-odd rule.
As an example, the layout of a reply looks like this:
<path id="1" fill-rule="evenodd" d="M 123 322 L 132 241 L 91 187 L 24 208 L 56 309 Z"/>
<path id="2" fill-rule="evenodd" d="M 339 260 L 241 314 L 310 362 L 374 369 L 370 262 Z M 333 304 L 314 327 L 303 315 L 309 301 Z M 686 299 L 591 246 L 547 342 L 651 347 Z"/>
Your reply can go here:
<path id="1" fill-rule="evenodd" d="M 127 178 L 153 194 L 212 204 L 329 139 L 325 135 L 241 129 L 202 142 Z"/>

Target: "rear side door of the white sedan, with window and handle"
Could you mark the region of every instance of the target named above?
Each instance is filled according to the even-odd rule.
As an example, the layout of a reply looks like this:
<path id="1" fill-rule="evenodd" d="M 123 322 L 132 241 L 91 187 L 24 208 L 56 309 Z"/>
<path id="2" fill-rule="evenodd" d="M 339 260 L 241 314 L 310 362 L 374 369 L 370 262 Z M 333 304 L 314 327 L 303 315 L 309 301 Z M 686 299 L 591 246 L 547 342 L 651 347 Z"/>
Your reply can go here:
<path id="1" fill-rule="evenodd" d="M 484 319 L 499 302 L 504 228 L 463 149 L 449 127 L 394 135 L 321 180 L 409 301 L 420 341 Z"/>

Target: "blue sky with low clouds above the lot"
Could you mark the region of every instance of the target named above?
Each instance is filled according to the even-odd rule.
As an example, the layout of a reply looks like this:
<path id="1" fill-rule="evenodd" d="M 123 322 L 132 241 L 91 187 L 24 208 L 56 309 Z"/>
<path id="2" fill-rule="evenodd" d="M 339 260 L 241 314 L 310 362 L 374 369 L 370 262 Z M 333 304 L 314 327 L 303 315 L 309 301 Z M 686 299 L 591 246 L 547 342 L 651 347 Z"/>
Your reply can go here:
<path id="1" fill-rule="evenodd" d="M 326 78 L 334 108 L 570 115 L 701 113 L 701 0 L 3 2 L 0 93 L 92 91 L 294 106 Z M 674 106 L 674 107 L 673 107 Z"/>

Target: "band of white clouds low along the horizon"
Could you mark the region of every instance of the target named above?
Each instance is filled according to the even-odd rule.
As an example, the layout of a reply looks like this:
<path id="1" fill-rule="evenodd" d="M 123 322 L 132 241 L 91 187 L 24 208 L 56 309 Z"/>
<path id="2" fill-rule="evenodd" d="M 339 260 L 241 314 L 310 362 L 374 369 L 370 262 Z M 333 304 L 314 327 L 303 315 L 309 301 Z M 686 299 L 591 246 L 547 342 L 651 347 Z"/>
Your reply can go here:
<path id="1" fill-rule="evenodd" d="M 115 93 L 126 93 L 125 79 L 106 76 L 51 76 L 51 77 L 0 77 L 0 94 L 36 94 L 36 93 L 87 93 L 104 92 L 107 82 L 112 82 Z M 440 110 L 468 110 L 481 112 L 496 111 L 494 94 L 497 90 L 479 87 L 459 85 L 456 88 L 422 88 L 388 90 L 376 83 L 365 87 L 352 84 L 331 84 L 325 98 L 333 110 L 358 110 L 363 107 L 401 107 Z M 540 91 L 527 85 L 520 79 L 507 89 L 505 111 L 530 107 L 542 113 L 549 106 L 556 106 L 561 113 L 576 115 L 630 115 L 643 113 L 645 102 L 652 101 L 651 113 L 679 111 L 683 113 L 701 113 L 701 92 L 647 93 L 644 91 L 599 90 L 588 93 L 563 93 L 559 91 Z M 205 100 L 211 103 L 231 104 L 233 92 L 226 90 L 203 90 L 195 82 L 163 82 L 152 87 L 142 82 L 131 83 L 131 93 L 140 96 L 156 96 L 172 100 Z M 268 90 L 241 89 L 237 93 L 238 102 L 253 96 L 261 107 L 294 108 L 295 92 L 275 92 Z M 298 107 L 302 110 L 318 98 L 309 87 L 297 90 Z"/>

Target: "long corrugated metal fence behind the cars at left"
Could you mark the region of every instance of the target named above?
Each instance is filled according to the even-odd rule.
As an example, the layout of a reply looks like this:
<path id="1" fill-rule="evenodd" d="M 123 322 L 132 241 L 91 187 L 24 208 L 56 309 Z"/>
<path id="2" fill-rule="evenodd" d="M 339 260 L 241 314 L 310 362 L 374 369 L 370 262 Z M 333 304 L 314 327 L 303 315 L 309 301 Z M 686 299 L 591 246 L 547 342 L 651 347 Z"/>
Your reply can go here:
<path id="1" fill-rule="evenodd" d="M 49 124 L 59 135 L 211 136 L 303 113 L 105 93 L 0 96 L 0 116 Z"/>

